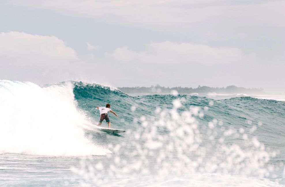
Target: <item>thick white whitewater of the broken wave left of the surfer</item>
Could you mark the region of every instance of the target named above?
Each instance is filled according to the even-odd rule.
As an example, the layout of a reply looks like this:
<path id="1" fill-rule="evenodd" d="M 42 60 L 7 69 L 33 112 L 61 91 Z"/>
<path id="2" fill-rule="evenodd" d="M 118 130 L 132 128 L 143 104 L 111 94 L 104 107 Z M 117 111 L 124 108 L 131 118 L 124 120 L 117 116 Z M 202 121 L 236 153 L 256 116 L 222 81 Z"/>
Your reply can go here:
<path id="1" fill-rule="evenodd" d="M 0 153 L 53 156 L 105 155 L 80 125 L 73 84 L 40 87 L 30 82 L 0 81 Z"/>

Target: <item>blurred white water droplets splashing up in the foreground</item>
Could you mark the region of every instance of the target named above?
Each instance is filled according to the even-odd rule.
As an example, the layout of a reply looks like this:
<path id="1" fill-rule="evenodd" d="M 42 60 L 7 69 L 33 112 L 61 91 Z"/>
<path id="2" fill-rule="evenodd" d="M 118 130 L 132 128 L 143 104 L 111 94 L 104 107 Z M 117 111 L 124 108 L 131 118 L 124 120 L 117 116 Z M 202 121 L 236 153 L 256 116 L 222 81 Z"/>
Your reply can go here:
<path id="1" fill-rule="evenodd" d="M 110 164 L 98 161 L 94 165 L 87 159 L 81 162 L 80 168 L 72 167 L 74 173 L 84 178 L 81 184 L 279 185 L 264 180 L 274 177 L 274 166 L 268 162 L 276 152 L 266 151 L 252 130 L 220 128 L 223 123 L 217 119 L 209 121 L 203 130 L 198 119 L 211 110 L 214 102 L 209 102 L 204 110 L 191 106 L 181 112 L 183 102 L 184 98 L 175 99 L 172 108 L 157 108 L 152 117 L 134 119 L 137 128 L 126 133 L 131 141 L 109 144 Z M 135 110 L 133 107 L 132 111 Z M 239 143 L 230 143 L 233 140 Z M 108 177 L 102 178 L 104 175 Z"/>

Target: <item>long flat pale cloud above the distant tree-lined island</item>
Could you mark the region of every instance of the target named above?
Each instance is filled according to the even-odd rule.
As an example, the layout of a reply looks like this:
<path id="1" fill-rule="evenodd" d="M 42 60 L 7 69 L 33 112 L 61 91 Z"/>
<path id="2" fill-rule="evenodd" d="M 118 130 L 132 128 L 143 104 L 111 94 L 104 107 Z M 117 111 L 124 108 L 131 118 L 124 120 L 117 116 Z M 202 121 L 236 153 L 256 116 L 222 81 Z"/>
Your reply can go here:
<path id="1" fill-rule="evenodd" d="M 115 49 L 107 54 L 122 62 L 144 62 L 158 64 L 232 64 L 250 62 L 254 55 L 247 56 L 234 47 L 210 47 L 190 43 L 151 43 L 147 51 L 135 52 L 128 47 Z"/>

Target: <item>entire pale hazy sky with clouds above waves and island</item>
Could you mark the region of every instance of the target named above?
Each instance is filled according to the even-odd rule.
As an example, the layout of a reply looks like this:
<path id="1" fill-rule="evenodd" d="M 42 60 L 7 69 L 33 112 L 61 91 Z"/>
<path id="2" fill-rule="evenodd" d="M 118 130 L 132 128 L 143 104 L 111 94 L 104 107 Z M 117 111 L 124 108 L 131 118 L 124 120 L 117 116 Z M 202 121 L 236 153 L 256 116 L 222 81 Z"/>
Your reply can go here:
<path id="1" fill-rule="evenodd" d="M 285 1 L 1 0 L 0 79 L 285 94 Z"/>

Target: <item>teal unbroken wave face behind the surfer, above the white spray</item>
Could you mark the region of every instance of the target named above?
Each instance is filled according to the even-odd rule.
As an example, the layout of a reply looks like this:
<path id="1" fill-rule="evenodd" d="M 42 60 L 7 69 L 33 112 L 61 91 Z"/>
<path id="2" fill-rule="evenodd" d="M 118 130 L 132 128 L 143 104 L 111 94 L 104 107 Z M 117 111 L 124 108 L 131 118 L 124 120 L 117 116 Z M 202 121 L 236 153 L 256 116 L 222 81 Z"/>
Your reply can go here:
<path id="1" fill-rule="evenodd" d="M 161 120 L 157 119 L 159 115 L 156 110 L 173 109 L 175 106 L 173 101 L 179 101 L 181 106 L 177 108 L 177 112 L 180 115 L 184 111 L 196 108 L 198 112 L 196 120 L 201 128 L 208 128 L 208 123 L 212 121 L 217 123 L 215 126 L 220 129 L 233 128 L 239 131 L 242 128 L 241 131 L 248 131 L 249 134 L 258 136 L 258 139 L 265 142 L 267 146 L 285 150 L 283 149 L 285 141 L 279 141 L 285 140 L 282 133 L 285 123 L 285 102 L 282 101 L 252 97 L 213 100 L 190 95 L 132 97 L 102 85 L 82 82 L 76 82 L 74 85 L 74 97 L 78 102 L 78 107 L 86 112 L 94 124 L 97 124 L 99 120 L 99 110 L 95 109 L 96 106 L 105 106 L 106 103 L 110 103 L 111 109 L 120 115 L 120 120 L 118 120 L 113 114 L 109 114 L 113 127 L 135 130 L 141 126 L 141 117 L 146 117 L 149 122 L 153 117 L 155 120 Z M 134 125 L 134 122 L 138 122 L 136 124 L 138 126 Z M 285 152 L 281 150 L 280 152 Z"/>

